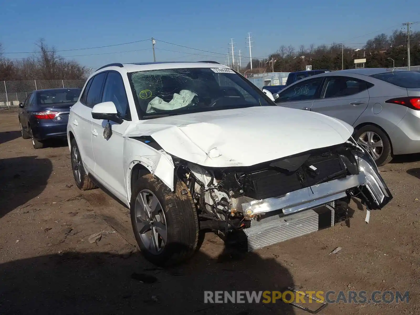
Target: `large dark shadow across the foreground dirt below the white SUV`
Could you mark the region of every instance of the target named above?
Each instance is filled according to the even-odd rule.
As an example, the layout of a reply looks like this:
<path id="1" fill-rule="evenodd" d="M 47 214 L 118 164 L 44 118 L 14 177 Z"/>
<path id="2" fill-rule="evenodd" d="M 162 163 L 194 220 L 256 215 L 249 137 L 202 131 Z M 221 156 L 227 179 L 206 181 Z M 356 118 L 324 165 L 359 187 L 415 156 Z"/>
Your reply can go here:
<path id="1" fill-rule="evenodd" d="M 186 264 L 156 268 L 139 252 L 64 252 L 0 265 L 2 314 L 295 314 L 290 304 L 204 303 L 204 291 L 276 291 L 293 286 L 274 258 L 199 251 Z M 264 298 L 262 297 L 261 300 Z M 246 300 L 246 298 L 245 298 Z M 313 305 L 313 304 L 311 304 Z"/>

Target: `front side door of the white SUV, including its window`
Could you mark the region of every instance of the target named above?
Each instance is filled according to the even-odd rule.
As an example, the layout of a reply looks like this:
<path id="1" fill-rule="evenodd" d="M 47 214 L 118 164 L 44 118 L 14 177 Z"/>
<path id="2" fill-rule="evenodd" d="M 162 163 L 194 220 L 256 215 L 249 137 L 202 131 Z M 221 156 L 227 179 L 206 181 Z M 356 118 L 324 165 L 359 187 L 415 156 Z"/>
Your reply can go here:
<path id="1" fill-rule="evenodd" d="M 124 82 L 117 71 L 107 71 L 101 102 L 113 102 L 123 123 L 110 121 L 112 134 L 104 137 L 108 121 L 92 119 L 92 147 L 95 154 L 95 176 L 110 192 L 127 201 L 123 168 L 123 133 L 131 122 L 129 102 Z M 127 201 L 128 202 L 128 201 Z"/>

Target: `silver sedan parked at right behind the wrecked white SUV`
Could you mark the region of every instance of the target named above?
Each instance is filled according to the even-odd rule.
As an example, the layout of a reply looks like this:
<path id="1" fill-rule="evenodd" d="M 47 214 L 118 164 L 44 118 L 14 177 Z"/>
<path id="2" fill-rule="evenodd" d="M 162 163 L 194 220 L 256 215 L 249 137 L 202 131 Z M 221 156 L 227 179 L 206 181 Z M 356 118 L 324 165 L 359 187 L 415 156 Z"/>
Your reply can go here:
<path id="1" fill-rule="evenodd" d="M 378 166 L 420 152 L 420 72 L 358 68 L 310 76 L 273 95 L 279 106 L 335 117 Z"/>

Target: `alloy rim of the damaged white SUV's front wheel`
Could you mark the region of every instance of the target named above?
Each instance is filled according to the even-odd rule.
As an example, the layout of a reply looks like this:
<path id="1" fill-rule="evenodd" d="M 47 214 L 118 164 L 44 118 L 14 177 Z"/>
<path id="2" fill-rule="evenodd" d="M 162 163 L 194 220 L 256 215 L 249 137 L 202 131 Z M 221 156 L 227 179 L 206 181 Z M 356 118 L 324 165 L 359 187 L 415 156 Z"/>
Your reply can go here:
<path id="1" fill-rule="evenodd" d="M 165 213 L 162 205 L 150 190 L 139 192 L 134 205 L 136 215 L 136 230 L 147 250 L 160 254 L 168 239 Z"/>

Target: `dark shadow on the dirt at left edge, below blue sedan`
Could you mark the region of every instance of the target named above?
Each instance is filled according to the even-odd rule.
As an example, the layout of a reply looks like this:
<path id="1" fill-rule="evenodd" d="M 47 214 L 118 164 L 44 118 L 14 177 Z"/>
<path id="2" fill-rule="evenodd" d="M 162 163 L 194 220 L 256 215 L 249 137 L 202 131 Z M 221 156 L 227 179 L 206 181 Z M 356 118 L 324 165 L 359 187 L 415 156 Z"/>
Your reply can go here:
<path id="1" fill-rule="evenodd" d="M 37 197 L 52 171 L 51 161 L 37 156 L 0 159 L 0 218 Z"/>

